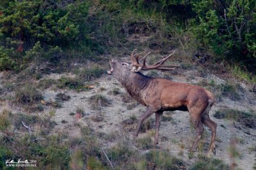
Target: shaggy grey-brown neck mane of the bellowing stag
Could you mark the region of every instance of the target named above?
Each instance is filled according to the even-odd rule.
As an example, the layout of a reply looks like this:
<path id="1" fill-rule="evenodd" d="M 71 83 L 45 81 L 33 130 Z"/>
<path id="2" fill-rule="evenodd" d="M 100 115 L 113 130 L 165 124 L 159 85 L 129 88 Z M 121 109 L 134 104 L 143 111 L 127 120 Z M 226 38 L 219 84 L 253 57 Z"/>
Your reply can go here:
<path id="1" fill-rule="evenodd" d="M 152 78 L 145 76 L 140 72 L 131 72 L 120 79 L 120 83 L 125 87 L 127 92 L 139 103 L 145 105 L 142 101 L 142 92 L 148 86 Z"/>

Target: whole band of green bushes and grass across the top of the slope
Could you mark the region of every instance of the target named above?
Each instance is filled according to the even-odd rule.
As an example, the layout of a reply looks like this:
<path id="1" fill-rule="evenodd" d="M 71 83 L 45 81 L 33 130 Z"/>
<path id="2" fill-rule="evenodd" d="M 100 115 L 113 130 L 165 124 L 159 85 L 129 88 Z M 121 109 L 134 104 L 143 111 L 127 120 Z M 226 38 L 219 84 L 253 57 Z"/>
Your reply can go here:
<path id="1" fill-rule="evenodd" d="M 193 41 L 195 50 L 212 50 L 214 59 L 255 73 L 255 6 L 241 0 L 1 1 L 0 69 L 63 57 L 99 60 L 127 34 L 154 32 L 159 38 L 149 47 L 170 50 Z"/>

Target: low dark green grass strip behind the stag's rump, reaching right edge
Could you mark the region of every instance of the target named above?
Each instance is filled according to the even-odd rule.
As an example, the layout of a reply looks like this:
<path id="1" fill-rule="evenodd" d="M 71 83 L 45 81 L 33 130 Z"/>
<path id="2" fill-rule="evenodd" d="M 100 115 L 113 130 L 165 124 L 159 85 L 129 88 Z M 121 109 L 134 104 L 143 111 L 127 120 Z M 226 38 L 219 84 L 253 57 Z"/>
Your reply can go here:
<path id="1" fill-rule="evenodd" d="M 225 118 L 228 120 L 234 120 L 246 127 L 256 129 L 256 113 L 247 111 L 232 110 L 232 109 L 220 109 L 217 110 L 214 115 L 215 118 Z"/>

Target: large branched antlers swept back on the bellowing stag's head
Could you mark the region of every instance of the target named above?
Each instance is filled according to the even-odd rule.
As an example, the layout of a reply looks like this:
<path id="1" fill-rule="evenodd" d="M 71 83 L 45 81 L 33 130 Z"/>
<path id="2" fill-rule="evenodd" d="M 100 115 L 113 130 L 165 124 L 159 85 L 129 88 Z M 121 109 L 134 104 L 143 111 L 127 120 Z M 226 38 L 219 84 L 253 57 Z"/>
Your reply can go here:
<path id="1" fill-rule="evenodd" d="M 158 62 L 156 62 L 154 65 L 152 66 L 147 66 L 146 65 L 146 59 L 148 57 L 148 55 L 150 54 L 147 53 L 147 55 L 145 55 L 142 59 L 138 59 L 138 57 L 141 55 L 141 53 L 137 54 L 134 52 L 136 52 L 136 49 L 133 50 L 132 54 L 131 54 L 131 60 L 132 60 L 132 69 L 133 71 L 140 71 L 140 69 L 143 70 L 150 70 L 150 69 L 161 69 L 161 70 L 172 70 L 172 69 L 176 69 L 177 67 L 179 67 L 179 65 L 175 65 L 175 64 L 171 64 L 171 65 L 163 65 L 164 62 L 169 59 L 175 52 L 173 51 L 173 53 L 171 53 L 170 55 L 168 55 L 167 57 L 164 57 L 163 59 L 159 60 Z M 140 64 L 141 60 L 143 60 L 143 64 Z"/>

